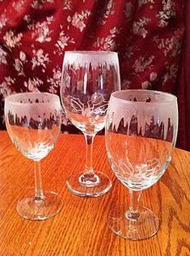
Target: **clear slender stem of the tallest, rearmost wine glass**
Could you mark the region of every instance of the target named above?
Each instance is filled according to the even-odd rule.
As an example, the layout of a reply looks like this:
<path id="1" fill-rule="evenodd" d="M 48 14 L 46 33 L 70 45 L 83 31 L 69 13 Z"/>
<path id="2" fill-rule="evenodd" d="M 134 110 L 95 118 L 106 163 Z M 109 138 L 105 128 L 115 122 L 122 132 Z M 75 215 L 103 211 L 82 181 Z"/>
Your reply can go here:
<path id="1" fill-rule="evenodd" d="M 84 176 L 93 176 L 94 170 L 92 167 L 92 150 L 93 150 L 93 141 L 95 138 L 95 134 L 84 134 L 85 141 L 86 141 L 86 163 L 85 163 L 85 170 Z"/>

